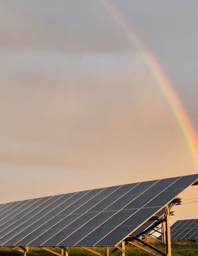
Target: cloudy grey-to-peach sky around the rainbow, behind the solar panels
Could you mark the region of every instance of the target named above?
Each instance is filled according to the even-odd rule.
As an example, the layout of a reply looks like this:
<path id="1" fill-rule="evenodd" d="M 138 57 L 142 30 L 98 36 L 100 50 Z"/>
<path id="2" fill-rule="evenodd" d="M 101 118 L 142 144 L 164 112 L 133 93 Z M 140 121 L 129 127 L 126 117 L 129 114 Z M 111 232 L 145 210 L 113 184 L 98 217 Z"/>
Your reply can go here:
<path id="1" fill-rule="evenodd" d="M 198 1 L 109 2 L 198 132 Z M 102 0 L 1 0 L 0 80 L 1 202 L 197 172 L 167 100 Z M 172 220 L 197 218 L 197 206 L 177 206 Z"/>

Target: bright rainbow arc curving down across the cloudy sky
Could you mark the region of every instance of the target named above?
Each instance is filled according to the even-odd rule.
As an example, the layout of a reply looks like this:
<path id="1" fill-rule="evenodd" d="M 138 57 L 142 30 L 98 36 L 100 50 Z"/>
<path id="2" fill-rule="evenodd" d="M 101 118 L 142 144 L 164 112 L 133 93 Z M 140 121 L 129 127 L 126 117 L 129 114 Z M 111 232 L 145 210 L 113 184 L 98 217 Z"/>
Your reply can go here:
<path id="1" fill-rule="evenodd" d="M 188 143 L 190 148 L 192 157 L 195 161 L 195 165 L 198 169 L 198 138 L 193 125 L 190 122 L 190 119 L 182 106 L 181 101 L 179 100 L 176 92 L 171 85 L 169 79 L 163 73 L 160 65 L 157 61 L 153 58 L 153 56 L 149 53 L 143 43 L 139 40 L 137 35 L 132 30 L 131 26 L 129 26 L 126 20 L 123 18 L 121 13 L 107 0 L 99 0 L 102 6 L 106 9 L 108 13 L 112 16 L 112 18 L 119 24 L 121 29 L 127 35 L 129 41 L 132 43 L 133 47 L 135 47 L 144 63 L 147 65 L 150 73 L 152 74 L 153 78 L 155 79 L 159 89 L 163 93 L 164 97 L 166 98 L 182 132 L 185 136 L 185 139 Z"/>

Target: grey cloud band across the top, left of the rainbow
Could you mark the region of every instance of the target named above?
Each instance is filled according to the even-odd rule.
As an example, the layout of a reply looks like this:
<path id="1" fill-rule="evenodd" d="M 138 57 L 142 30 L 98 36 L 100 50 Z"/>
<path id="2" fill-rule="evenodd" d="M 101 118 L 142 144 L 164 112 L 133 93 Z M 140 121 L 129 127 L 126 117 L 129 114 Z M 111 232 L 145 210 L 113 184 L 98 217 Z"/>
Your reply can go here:
<path id="1" fill-rule="evenodd" d="M 131 49 L 99 1 L 1 1 L 0 44 L 20 51 L 67 53 Z"/>

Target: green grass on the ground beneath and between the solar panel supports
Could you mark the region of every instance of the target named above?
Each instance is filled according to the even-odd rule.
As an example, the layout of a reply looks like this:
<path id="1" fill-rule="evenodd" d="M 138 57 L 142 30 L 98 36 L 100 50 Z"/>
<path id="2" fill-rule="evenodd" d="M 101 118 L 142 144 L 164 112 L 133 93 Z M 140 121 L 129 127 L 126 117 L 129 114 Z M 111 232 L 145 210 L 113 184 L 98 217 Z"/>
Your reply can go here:
<path id="1" fill-rule="evenodd" d="M 163 247 L 157 246 L 158 249 L 163 250 Z M 52 248 L 51 248 L 52 249 Z M 96 251 L 100 253 L 105 253 L 103 248 L 94 248 Z M 53 249 L 56 252 L 60 253 L 60 249 Z M 11 250 L 6 247 L 0 248 L 0 256 L 21 256 L 22 253 L 19 253 L 15 250 Z M 116 252 L 113 255 L 120 256 L 120 252 Z M 134 255 L 134 256 L 148 256 L 150 254 L 139 250 L 133 246 L 126 247 L 126 255 Z M 198 243 L 173 243 L 172 244 L 172 255 L 173 256 L 198 256 Z M 29 252 L 27 256 L 52 256 L 49 252 L 46 252 L 39 248 L 29 248 Z M 69 256 L 94 256 L 94 254 L 89 253 L 81 248 L 69 248 Z"/>

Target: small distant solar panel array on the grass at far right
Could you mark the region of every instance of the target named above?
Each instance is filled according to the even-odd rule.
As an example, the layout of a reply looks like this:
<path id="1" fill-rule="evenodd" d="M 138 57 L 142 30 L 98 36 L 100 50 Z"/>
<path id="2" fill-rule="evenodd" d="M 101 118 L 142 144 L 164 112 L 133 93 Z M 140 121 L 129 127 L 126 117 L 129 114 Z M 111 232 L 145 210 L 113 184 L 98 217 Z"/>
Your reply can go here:
<path id="1" fill-rule="evenodd" d="M 171 226 L 171 240 L 198 239 L 198 219 L 178 220 Z"/>

